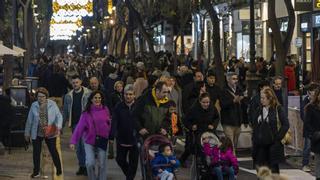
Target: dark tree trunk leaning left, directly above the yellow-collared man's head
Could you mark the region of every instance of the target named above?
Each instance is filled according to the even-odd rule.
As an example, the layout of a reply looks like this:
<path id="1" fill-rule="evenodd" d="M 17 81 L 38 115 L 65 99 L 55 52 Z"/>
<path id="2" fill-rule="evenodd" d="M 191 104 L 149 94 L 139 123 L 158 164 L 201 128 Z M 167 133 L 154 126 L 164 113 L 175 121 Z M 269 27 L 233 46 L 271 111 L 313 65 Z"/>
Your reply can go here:
<path id="1" fill-rule="evenodd" d="M 144 37 L 144 39 L 147 41 L 149 53 L 150 53 L 150 56 L 152 59 L 152 65 L 157 66 L 159 64 L 159 62 L 156 59 L 156 53 L 154 51 L 153 39 L 152 39 L 151 35 L 147 32 L 146 28 L 144 27 L 141 16 L 140 16 L 139 12 L 132 6 L 131 1 L 126 0 L 125 3 L 129 9 L 129 11 L 131 11 L 132 15 L 134 16 L 134 19 L 138 25 L 140 32 L 142 33 L 142 35 Z"/>

